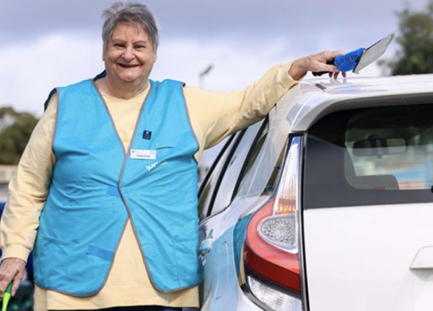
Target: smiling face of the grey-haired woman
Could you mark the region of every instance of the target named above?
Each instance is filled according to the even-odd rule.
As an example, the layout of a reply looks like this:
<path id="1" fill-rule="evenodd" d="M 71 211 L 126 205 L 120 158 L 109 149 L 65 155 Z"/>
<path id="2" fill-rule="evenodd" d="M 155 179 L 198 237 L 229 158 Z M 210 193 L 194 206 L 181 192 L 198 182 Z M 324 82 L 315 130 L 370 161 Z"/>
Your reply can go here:
<path id="1" fill-rule="evenodd" d="M 157 55 L 141 25 L 119 23 L 107 41 L 102 59 L 111 87 L 143 88 Z"/>

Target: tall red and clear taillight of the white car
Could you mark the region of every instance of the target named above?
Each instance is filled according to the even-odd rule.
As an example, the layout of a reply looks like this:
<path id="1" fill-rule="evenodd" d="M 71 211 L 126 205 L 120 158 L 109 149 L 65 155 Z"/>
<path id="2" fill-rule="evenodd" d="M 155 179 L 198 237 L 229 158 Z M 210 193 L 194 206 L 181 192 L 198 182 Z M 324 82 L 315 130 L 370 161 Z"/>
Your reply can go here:
<path id="1" fill-rule="evenodd" d="M 299 136 L 291 140 L 278 191 L 253 215 L 243 246 L 250 292 L 276 311 L 302 310 L 297 215 L 300 142 Z"/>

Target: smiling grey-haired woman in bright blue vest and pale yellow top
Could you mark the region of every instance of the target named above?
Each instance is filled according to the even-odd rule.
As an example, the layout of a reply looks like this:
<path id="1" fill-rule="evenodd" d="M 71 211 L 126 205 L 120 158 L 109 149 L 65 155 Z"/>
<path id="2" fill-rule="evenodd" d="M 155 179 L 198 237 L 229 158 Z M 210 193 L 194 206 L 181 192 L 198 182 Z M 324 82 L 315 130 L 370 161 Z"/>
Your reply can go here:
<path id="1" fill-rule="evenodd" d="M 146 6 L 104 10 L 96 78 L 52 92 L 10 183 L 0 291 L 34 248 L 35 310 L 181 310 L 198 299 L 197 161 L 263 118 L 341 52 L 278 65 L 242 92 L 150 81 L 157 25 Z"/>

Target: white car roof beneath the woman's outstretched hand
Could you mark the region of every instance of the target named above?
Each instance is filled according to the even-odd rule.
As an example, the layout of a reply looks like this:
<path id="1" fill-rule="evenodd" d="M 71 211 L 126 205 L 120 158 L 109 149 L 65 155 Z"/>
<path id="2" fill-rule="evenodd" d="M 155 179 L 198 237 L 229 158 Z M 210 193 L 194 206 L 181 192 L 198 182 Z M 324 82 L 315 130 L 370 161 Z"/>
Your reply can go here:
<path id="1" fill-rule="evenodd" d="M 277 115 L 298 132 L 332 111 L 415 103 L 433 103 L 433 74 L 304 79 L 278 101 Z"/>

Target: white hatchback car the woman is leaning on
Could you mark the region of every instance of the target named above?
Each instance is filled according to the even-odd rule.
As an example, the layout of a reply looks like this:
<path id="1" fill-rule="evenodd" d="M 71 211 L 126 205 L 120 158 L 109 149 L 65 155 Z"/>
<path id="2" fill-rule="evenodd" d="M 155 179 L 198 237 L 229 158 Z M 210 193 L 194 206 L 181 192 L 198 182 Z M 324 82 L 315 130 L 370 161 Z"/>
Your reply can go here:
<path id="1" fill-rule="evenodd" d="M 432 185 L 433 74 L 303 81 L 201 184 L 201 310 L 432 310 Z"/>

